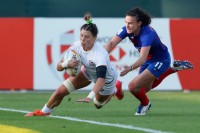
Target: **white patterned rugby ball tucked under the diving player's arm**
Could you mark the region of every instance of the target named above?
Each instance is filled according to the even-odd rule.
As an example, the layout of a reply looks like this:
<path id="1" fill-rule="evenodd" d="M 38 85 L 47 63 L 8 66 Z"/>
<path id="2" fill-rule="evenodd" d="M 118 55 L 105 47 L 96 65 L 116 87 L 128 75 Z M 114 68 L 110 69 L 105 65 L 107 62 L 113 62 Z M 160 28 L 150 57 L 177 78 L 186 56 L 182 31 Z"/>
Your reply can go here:
<path id="1" fill-rule="evenodd" d="M 65 53 L 64 60 L 68 60 L 68 61 L 69 60 L 79 60 L 80 61 L 78 68 L 76 68 L 76 69 L 66 68 L 65 69 L 65 72 L 69 76 L 74 77 L 74 76 L 78 75 L 78 73 L 80 72 L 80 69 L 81 69 L 81 58 L 80 58 L 79 54 L 75 50 L 70 49 Z"/>

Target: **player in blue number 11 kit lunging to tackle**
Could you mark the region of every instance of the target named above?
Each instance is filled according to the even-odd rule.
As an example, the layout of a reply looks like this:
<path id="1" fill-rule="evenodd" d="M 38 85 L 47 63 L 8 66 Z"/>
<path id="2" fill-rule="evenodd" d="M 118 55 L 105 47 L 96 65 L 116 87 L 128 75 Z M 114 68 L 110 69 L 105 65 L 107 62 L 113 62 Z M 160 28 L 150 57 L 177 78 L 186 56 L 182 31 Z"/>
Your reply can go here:
<path id="1" fill-rule="evenodd" d="M 139 74 L 131 79 L 128 89 L 140 101 L 135 115 L 145 115 L 151 107 L 146 93 L 159 85 L 168 75 L 179 70 L 191 69 L 189 61 L 174 61 L 168 48 L 161 42 L 156 31 L 150 26 L 151 16 L 141 8 L 133 8 L 126 13 L 125 26 L 105 45 L 110 53 L 112 48 L 128 37 L 140 52 L 139 58 L 132 64 L 124 66 L 120 76 L 125 76 L 139 68 Z"/>

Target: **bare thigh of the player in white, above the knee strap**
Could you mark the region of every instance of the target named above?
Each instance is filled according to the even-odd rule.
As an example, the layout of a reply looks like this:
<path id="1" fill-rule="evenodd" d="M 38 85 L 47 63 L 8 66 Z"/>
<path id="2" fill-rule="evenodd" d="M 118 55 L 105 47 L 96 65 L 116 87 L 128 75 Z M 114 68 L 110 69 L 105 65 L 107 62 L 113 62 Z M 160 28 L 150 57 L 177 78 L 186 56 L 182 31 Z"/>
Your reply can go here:
<path id="1" fill-rule="evenodd" d="M 80 71 L 80 73 L 77 76 L 70 77 L 69 80 L 76 89 L 86 87 L 91 83 L 91 81 L 85 77 L 82 71 Z"/>

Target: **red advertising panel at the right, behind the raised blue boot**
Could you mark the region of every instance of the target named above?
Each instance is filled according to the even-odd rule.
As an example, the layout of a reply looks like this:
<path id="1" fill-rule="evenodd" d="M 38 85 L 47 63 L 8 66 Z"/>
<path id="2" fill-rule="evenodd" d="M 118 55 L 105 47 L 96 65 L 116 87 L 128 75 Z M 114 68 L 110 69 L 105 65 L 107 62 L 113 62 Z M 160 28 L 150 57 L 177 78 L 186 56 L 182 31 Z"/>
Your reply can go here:
<path id="1" fill-rule="evenodd" d="M 175 59 L 187 59 L 193 70 L 178 72 L 183 89 L 199 90 L 200 82 L 200 19 L 171 19 L 170 34 Z"/>

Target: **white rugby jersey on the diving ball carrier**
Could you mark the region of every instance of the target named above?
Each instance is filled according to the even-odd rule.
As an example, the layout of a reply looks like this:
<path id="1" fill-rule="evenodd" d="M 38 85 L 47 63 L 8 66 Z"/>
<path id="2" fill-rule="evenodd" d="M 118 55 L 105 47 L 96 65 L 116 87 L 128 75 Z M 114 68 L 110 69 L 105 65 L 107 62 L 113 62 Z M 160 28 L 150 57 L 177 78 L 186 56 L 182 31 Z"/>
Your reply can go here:
<path id="1" fill-rule="evenodd" d="M 85 66 L 86 73 L 90 78 L 96 82 L 96 67 L 106 66 L 106 81 L 105 83 L 111 83 L 116 79 L 116 69 L 111 65 L 110 58 L 106 49 L 100 44 L 95 42 L 93 48 L 90 51 L 85 51 L 81 45 L 80 41 L 74 42 L 71 45 L 71 49 L 75 50 L 81 57 L 81 63 Z"/>

